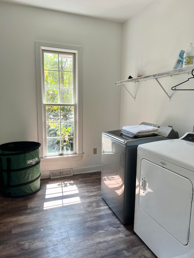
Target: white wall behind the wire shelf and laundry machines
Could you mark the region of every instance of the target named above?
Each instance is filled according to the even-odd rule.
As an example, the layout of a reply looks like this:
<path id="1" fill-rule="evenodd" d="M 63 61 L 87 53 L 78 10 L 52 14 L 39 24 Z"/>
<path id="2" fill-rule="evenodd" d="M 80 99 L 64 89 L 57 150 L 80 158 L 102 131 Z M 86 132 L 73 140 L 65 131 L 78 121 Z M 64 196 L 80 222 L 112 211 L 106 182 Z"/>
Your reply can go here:
<path id="1" fill-rule="evenodd" d="M 157 0 L 126 21 L 121 79 L 172 70 L 180 50 L 185 50 L 189 42 L 194 43 L 193 10 L 193 0 Z M 159 79 L 171 101 L 154 79 L 125 84 L 135 101 L 121 86 L 120 127 L 150 122 L 172 125 L 179 136 L 192 132 L 194 91 L 171 90 L 188 76 L 191 74 Z M 182 87 L 194 89 L 194 80 Z"/>

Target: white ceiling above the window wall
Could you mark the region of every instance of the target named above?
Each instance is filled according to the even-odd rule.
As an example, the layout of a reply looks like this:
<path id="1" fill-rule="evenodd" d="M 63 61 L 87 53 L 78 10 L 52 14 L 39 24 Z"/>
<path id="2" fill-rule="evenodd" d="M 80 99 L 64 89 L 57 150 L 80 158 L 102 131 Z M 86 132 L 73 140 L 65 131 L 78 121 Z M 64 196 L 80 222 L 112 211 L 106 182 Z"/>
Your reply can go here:
<path id="1" fill-rule="evenodd" d="M 0 2 L 124 22 L 155 0 L 0 0 Z"/>

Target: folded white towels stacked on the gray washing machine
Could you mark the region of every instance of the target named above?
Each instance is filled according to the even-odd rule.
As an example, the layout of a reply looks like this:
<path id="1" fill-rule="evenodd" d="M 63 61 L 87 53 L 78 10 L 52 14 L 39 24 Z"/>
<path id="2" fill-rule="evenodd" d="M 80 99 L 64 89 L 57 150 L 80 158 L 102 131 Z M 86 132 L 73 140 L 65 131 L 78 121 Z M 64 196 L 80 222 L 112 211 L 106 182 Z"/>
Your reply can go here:
<path id="1" fill-rule="evenodd" d="M 158 134 L 158 128 L 155 126 L 123 126 L 120 132 L 126 136 L 134 137 L 134 136 L 149 136 L 153 134 Z"/>

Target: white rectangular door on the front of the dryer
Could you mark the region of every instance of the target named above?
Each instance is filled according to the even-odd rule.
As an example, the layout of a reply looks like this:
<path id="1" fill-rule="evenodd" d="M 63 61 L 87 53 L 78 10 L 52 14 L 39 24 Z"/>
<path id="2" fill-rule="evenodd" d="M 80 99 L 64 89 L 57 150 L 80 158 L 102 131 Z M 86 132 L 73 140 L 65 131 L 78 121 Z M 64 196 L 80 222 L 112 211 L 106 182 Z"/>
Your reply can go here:
<path id="1" fill-rule="evenodd" d="M 186 245 L 193 185 L 188 178 L 177 173 L 142 159 L 139 206 L 169 234 Z"/>

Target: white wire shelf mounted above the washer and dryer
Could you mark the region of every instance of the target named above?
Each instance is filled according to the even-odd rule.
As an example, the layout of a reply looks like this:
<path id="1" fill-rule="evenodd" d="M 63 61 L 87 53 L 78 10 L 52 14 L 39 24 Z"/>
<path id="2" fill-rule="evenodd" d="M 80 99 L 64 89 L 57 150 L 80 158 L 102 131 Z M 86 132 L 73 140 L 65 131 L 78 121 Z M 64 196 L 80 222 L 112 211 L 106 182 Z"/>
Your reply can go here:
<path id="1" fill-rule="evenodd" d="M 154 74 L 150 74 L 150 75 L 144 75 L 144 76 L 140 76 L 140 77 L 136 77 L 136 78 L 132 78 L 132 79 L 128 79 L 128 80 L 115 82 L 115 85 L 123 85 L 125 83 L 139 82 L 139 81 L 150 80 L 150 79 L 158 79 L 158 78 L 162 78 L 162 77 L 179 75 L 179 74 L 183 74 L 183 73 L 191 73 L 191 71 L 193 69 L 194 69 L 194 65 L 192 65 L 190 67 L 183 67 L 183 68 L 170 70 L 170 71 L 166 71 L 166 72 L 154 73 Z"/>

